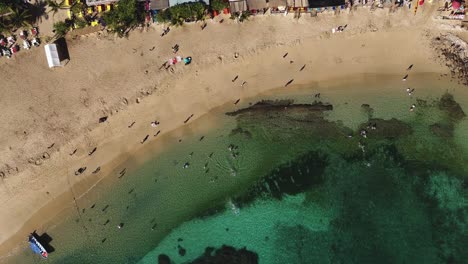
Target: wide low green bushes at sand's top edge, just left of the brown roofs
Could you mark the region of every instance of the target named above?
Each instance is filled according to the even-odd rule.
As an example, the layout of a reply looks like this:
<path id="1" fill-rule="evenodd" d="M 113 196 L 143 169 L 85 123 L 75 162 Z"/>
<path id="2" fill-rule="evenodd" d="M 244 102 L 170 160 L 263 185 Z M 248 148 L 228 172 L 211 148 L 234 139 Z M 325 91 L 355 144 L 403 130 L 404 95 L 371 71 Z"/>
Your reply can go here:
<path id="1" fill-rule="evenodd" d="M 173 25 L 182 25 L 184 22 L 203 20 L 206 9 L 203 2 L 183 3 L 159 12 L 156 19 L 161 23 L 169 22 Z"/>

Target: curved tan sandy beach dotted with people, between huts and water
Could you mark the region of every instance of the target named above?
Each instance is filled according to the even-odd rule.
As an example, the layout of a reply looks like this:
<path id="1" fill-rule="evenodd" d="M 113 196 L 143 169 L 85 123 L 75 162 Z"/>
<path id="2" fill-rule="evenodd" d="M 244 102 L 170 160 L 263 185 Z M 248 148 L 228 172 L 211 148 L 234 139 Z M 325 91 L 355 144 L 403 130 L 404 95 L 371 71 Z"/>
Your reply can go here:
<path id="1" fill-rule="evenodd" d="M 63 68 L 49 69 L 42 47 L 0 60 L 0 255 L 72 206 L 73 196 L 138 151 L 147 135 L 148 142 L 158 140 L 158 131 L 183 126 L 192 115 L 188 123 L 290 80 L 285 89 L 360 74 L 403 78 L 411 64 L 409 78 L 449 74 L 431 46 L 446 30 L 438 29 L 435 8 L 425 5 L 416 15 L 358 8 L 298 20 L 257 16 L 240 24 L 216 18 L 203 31 L 188 24 L 164 37 L 160 26 L 132 32 L 128 39 L 81 36 L 68 41 L 71 60 Z M 345 24 L 344 32 L 332 34 L 333 27 Z M 174 56 L 175 44 L 178 54 L 193 62 L 175 65 L 173 72 L 159 69 Z M 155 120 L 160 124 L 152 127 Z M 76 176 L 82 167 L 86 170 Z"/>

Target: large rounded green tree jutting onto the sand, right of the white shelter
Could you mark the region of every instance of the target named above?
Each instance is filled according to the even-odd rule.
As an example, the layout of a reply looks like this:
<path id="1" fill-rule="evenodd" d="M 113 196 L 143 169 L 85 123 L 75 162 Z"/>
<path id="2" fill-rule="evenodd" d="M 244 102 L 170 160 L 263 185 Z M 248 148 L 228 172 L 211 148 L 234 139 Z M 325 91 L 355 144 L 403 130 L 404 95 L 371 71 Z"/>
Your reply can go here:
<path id="1" fill-rule="evenodd" d="M 121 0 L 117 8 L 104 13 L 104 21 L 107 27 L 120 37 L 127 34 L 128 30 L 132 29 L 144 19 L 143 13 L 137 10 L 136 0 Z"/>

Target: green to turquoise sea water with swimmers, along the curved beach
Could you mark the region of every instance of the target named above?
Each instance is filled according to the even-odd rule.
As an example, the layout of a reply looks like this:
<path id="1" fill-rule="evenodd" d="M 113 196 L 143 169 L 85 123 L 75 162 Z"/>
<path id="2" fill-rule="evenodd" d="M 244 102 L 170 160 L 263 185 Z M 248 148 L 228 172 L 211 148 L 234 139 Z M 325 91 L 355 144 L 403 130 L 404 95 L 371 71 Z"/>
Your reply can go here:
<path id="1" fill-rule="evenodd" d="M 62 212 L 46 228 L 49 262 L 157 263 L 167 254 L 191 263 L 225 244 L 246 247 L 260 263 L 461 263 L 468 125 L 453 114 L 456 103 L 441 108 L 440 98 L 449 91 L 467 109 L 468 96 L 438 79 L 362 76 L 216 109 L 158 139 L 163 150 L 149 144 Z M 224 114 L 261 99 L 333 110 Z M 369 119 L 377 129 L 366 128 Z M 37 259 L 25 250 L 15 262 Z"/>

